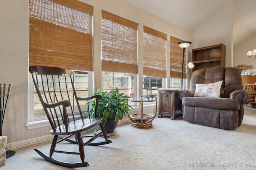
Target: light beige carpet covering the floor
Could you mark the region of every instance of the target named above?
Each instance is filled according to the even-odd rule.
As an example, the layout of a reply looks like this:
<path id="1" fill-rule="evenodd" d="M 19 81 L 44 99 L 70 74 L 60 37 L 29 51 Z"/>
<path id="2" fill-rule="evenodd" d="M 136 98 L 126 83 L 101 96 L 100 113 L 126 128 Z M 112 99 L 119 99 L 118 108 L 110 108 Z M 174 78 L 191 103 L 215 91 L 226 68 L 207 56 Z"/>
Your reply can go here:
<path id="1" fill-rule="evenodd" d="M 176 169 L 256 169 L 256 117 L 244 116 L 235 131 L 216 129 L 169 117 L 153 121 L 151 129 L 136 129 L 130 124 L 118 127 L 111 136 L 113 143 L 86 146 L 86 161 L 90 166 L 77 170 L 176 170 Z M 77 151 L 77 146 L 64 142 L 62 148 Z M 6 159 L 1 170 L 60 170 L 44 160 L 34 149 L 48 153 L 50 143 L 16 149 Z M 78 155 L 56 158 L 74 162 Z M 248 167 L 254 166 L 254 167 Z"/>

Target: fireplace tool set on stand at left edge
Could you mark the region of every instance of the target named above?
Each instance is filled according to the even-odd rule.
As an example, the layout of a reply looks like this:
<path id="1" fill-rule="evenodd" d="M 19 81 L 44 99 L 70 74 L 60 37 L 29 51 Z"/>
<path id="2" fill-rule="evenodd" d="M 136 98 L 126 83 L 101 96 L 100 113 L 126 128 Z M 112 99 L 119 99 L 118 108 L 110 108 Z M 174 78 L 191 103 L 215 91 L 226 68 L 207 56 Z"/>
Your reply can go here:
<path id="1" fill-rule="evenodd" d="M 4 86 L 2 86 L 2 83 L 0 83 L 0 136 L 2 136 L 2 126 L 4 123 L 4 115 L 6 111 L 6 105 L 8 102 L 8 98 L 10 96 L 10 91 L 12 88 L 12 84 L 9 84 L 7 94 L 6 92 L 6 83 L 4 83 Z M 13 150 L 6 150 L 6 158 L 10 158 L 15 154 L 15 151 Z"/>

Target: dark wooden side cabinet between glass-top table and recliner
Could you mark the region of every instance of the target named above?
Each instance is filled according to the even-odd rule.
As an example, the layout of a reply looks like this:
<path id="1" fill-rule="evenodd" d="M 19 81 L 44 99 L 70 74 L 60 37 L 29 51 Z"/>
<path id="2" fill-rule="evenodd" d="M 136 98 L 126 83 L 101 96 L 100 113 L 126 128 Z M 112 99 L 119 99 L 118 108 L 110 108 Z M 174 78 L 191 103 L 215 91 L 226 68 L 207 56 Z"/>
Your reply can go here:
<path id="1" fill-rule="evenodd" d="M 179 89 L 158 90 L 158 117 L 170 116 L 175 120 L 176 115 L 182 114 L 181 99 L 178 96 Z"/>

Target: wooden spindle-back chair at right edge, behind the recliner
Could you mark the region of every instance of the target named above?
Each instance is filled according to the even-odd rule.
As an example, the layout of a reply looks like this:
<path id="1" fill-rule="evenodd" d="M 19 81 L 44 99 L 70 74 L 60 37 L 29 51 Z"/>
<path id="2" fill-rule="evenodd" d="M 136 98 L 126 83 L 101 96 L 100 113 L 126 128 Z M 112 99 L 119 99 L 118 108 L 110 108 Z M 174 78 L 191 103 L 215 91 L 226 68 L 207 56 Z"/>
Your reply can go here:
<path id="1" fill-rule="evenodd" d="M 243 88 L 250 95 L 250 98 L 245 103 L 245 105 L 251 104 L 251 106 L 254 108 L 256 105 L 256 102 L 255 102 L 255 100 L 256 100 L 256 76 L 244 75 L 241 77 L 242 77 Z"/>

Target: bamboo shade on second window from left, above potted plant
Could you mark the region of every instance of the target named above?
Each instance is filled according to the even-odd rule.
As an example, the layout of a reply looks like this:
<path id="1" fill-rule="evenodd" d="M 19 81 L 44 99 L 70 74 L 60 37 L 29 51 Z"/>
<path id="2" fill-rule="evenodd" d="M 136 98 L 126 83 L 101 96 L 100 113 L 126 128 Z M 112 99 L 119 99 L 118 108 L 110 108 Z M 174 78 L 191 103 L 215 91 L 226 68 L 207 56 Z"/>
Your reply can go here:
<path id="1" fill-rule="evenodd" d="M 138 73 L 138 23 L 104 10 L 102 71 Z"/>

